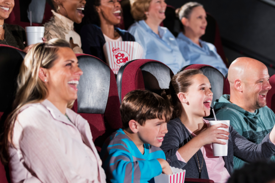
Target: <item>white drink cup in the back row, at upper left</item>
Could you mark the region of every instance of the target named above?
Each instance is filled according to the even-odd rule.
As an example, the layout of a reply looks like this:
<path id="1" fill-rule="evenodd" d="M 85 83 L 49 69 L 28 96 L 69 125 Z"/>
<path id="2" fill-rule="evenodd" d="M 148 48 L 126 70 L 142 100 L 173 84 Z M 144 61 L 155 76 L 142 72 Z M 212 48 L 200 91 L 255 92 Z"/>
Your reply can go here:
<path id="1" fill-rule="evenodd" d="M 26 27 L 28 46 L 36 43 L 42 43 L 45 27 Z"/>

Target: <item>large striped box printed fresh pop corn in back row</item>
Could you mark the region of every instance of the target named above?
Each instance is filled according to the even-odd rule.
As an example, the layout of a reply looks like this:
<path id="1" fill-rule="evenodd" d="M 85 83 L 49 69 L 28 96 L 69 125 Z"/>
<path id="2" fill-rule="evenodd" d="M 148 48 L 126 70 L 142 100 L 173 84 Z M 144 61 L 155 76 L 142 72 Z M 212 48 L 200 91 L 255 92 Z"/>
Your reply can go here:
<path id="1" fill-rule="evenodd" d="M 143 49 L 135 41 L 106 42 L 103 46 L 106 62 L 112 71 L 117 74 L 119 68 L 126 62 L 141 59 Z"/>

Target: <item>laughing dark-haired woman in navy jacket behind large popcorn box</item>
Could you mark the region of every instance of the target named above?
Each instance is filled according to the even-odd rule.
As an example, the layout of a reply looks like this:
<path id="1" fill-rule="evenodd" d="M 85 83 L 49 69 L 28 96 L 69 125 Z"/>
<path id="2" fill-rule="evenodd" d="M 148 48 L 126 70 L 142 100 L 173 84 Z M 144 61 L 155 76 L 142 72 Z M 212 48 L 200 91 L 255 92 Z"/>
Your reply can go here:
<path id="1" fill-rule="evenodd" d="M 80 36 L 85 54 L 96 56 L 106 62 L 103 45 L 109 41 L 135 41 L 134 36 L 115 25 L 121 20 L 118 0 L 87 1 L 84 11 L 84 25 Z"/>

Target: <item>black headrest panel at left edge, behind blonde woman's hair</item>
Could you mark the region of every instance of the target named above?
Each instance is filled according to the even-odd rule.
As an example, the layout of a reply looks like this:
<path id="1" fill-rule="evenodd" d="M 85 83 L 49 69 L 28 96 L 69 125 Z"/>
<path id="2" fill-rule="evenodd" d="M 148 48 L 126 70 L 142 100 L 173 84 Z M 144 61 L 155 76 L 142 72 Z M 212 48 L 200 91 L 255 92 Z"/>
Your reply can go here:
<path id="1" fill-rule="evenodd" d="M 0 112 L 4 112 L 13 102 L 16 79 L 25 55 L 17 48 L 0 45 Z"/>

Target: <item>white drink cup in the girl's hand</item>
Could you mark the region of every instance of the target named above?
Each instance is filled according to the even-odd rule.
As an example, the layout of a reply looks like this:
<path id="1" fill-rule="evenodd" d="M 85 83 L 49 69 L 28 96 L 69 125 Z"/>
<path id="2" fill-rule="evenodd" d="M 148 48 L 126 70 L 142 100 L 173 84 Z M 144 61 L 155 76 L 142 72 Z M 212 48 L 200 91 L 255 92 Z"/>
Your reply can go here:
<path id="1" fill-rule="evenodd" d="M 210 126 L 215 125 L 215 124 L 220 124 L 220 123 L 226 124 L 229 127 L 230 120 L 209 121 Z M 225 131 L 229 132 L 229 128 L 218 128 L 218 129 L 225 130 Z M 228 135 L 225 135 L 225 136 L 228 137 Z M 219 140 L 221 140 L 222 142 L 226 142 L 226 145 L 212 143 L 213 156 L 227 156 L 228 140 L 224 140 L 224 139 L 219 139 Z"/>

